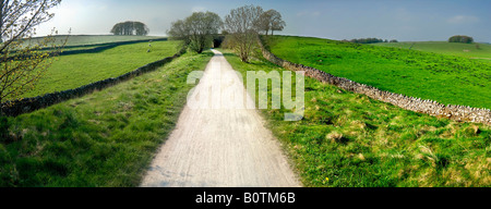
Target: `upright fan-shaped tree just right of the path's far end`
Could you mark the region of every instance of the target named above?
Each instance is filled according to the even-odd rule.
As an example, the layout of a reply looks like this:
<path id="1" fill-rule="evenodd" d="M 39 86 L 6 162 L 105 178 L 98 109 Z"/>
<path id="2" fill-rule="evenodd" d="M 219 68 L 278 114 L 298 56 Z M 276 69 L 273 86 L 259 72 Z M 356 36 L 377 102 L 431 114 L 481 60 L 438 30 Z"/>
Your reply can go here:
<path id="1" fill-rule="evenodd" d="M 239 52 L 242 62 L 248 62 L 259 33 L 259 23 L 263 14 L 261 7 L 244 5 L 230 11 L 225 16 L 225 29 L 230 34 L 233 49 Z"/>

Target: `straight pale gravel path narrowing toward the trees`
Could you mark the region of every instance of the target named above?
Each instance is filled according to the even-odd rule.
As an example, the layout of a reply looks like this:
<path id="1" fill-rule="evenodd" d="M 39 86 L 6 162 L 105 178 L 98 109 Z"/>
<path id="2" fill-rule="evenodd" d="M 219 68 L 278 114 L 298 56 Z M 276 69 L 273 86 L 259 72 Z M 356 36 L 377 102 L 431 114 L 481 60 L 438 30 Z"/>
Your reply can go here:
<path id="1" fill-rule="evenodd" d="M 185 106 L 141 186 L 301 186 L 258 110 L 230 108 L 251 104 L 250 96 L 221 53 L 214 52 L 192 102 Z M 213 94 L 219 97 L 209 96 Z"/>

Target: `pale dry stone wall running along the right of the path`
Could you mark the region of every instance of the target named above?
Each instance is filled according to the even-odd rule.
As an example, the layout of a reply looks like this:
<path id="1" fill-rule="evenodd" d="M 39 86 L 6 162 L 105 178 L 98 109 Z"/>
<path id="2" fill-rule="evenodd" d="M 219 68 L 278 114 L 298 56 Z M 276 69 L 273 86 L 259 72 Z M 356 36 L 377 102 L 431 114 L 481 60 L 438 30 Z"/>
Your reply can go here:
<path id="1" fill-rule="evenodd" d="M 443 116 L 455 121 L 475 122 L 491 125 L 491 111 L 489 109 L 442 104 L 432 100 L 422 100 L 420 98 L 380 90 L 372 86 L 359 84 L 344 77 L 331 75 L 314 67 L 285 61 L 270 52 L 264 47 L 261 39 L 259 39 L 258 42 L 262 49 L 263 57 L 270 62 L 273 62 L 290 71 L 304 71 L 306 76 L 315 78 L 322 83 L 335 85 L 345 90 L 349 90 L 356 94 L 367 95 L 372 99 L 388 102 L 406 110 L 426 113 L 433 116 Z"/>

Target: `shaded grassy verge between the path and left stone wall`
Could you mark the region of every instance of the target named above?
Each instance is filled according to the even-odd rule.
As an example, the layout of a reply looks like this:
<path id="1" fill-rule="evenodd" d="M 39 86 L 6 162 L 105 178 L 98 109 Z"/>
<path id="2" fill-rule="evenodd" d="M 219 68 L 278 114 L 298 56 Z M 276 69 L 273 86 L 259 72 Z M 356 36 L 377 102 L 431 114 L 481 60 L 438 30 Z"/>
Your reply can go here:
<path id="1" fill-rule="evenodd" d="M 185 103 L 187 75 L 211 57 L 184 54 L 132 81 L 8 118 L 0 186 L 136 186 Z"/>

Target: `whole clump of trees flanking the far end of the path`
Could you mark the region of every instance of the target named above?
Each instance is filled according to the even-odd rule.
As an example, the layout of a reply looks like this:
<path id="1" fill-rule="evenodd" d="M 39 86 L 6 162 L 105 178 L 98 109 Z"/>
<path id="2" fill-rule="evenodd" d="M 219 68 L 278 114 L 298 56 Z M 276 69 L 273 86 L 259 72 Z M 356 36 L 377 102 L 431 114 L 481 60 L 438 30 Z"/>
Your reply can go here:
<path id="1" fill-rule="evenodd" d="M 278 11 L 244 5 L 231 10 L 225 21 L 213 12 L 194 12 L 184 20 L 172 22 L 167 34 L 170 38 L 183 40 L 184 47 L 201 53 L 211 47 L 221 29 L 221 34 L 226 35 L 225 41 L 233 46 L 243 62 L 248 62 L 258 35 L 273 35 L 285 26 Z"/>

